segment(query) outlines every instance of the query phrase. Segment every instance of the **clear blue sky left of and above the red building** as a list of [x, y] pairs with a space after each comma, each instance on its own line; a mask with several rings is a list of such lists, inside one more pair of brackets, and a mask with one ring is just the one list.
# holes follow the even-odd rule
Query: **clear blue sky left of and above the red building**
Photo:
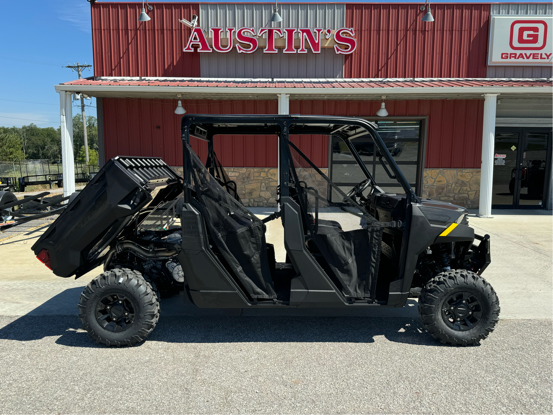
[[[395, 0], [389, 3], [417, 2]], [[465, 2], [442, 0], [438, 3]], [[59, 95], [54, 91], [54, 85], [77, 79], [76, 72], [63, 66], [77, 62], [92, 64], [90, 4], [86, 0], [4, 0], [2, 16], [0, 126], [22, 126], [34, 122], [39, 127], [58, 127]], [[84, 76], [90, 75], [92, 72], [84, 72]], [[96, 100], [85, 102], [89, 105], [87, 115], [96, 116]], [[74, 115], [79, 111], [75, 107]]]

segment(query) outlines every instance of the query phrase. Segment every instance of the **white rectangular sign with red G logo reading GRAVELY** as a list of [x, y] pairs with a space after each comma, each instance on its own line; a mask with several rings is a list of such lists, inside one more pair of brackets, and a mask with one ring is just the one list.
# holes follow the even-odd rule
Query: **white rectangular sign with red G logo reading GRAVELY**
[[492, 16], [488, 65], [551, 65], [553, 18]]

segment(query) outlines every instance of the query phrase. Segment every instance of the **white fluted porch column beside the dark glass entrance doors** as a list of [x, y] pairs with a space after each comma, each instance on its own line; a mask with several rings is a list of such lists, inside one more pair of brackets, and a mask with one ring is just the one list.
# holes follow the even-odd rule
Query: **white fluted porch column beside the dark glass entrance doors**
[[499, 94], [484, 94], [482, 126], [482, 167], [480, 171], [479, 217], [492, 216], [493, 151], [495, 146], [495, 105]]

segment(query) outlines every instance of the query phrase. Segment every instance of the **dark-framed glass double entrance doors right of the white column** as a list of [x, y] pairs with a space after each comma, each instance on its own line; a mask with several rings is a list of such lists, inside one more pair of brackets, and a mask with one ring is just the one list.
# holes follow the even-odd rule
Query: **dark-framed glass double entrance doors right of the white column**
[[[551, 130], [497, 128], [493, 162], [492, 207], [540, 209], [550, 172]], [[550, 173], [549, 173], [550, 174]]]

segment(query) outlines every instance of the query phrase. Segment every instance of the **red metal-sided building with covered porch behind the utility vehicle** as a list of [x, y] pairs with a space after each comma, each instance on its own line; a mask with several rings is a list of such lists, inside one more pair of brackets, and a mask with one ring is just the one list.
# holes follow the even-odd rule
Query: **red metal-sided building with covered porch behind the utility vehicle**
[[[539, 59], [530, 54], [528, 62], [495, 65], [488, 56], [495, 42], [492, 18], [550, 16], [549, 3], [432, 4], [433, 22], [421, 20], [427, 10], [421, 11], [419, 3], [279, 3], [282, 30], [306, 28], [314, 39], [317, 28], [328, 30], [317, 38], [320, 53], [305, 40], [305, 54], [283, 53], [292, 48], [284, 34], [274, 40], [277, 53], [265, 53], [270, 49], [267, 34], [255, 37], [259, 48], [253, 53], [214, 50], [211, 28], [222, 27], [225, 33], [250, 27], [259, 33], [273, 12], [270, 3], [152, 6], [151, 19], [139, 22], [142, 3], [92, 3], [94, 76], [56, 86], [97, 97], [102, 160], [155, 155], [178, 168], [181, 116], [174, 110], [179, 100], [187, 113], [358, 116], [377, 121], [384, 135], [390, 132], [388, 141], [402, 143], [398, 164], [419, 194], [472, 208], [482, 200], [483, 215], [492, 204], [550, 205], [551, 55], [546, 56], [551, 43], [543, 40], [544, 53]], [[181, 22], [194, 15], [195, 28]], [[278, 24], [269, 24], [278, 30]], [[286, 32], [296, 51], [304, 42], [299, 33]], [[340, 44], [340, 34], [355, 39], [355, 47]], [[184, 51], [189, 44], [195, 51]], [[212, 51], [198, 51], [202, 49]], [[388, 116], [378, 117], [383, 101]], [[522, 147], [530, 141], [541, 146], [543, 154], [535, 155], [544, 158], [547, 170], [541, 195], [524, 196], [524, 186], [517, 182], [510, 199], [498, 196], [504, 193], [507, 170], [493, 172], [489, 154], [503, 145], [494, 138], [496, 128], [517, 133]], [[346, 164], [333, 159], [331, 138], [296, 141], [337, 183], [356, 184], [338, 177], [346, 174]], [[192, 145], [206, 157], [202, 144]], [[254, 188], [255, 178], [267, 177], [276, 167], [274, 137], [233, 137], [217, 142], [216, 152], [243, 189]], [[516, 164], [523, 155], [513, 153]], [[254, 206], [274, 204], [274, 195], [264, 197], [260, 191], [243, 190], [242, 198]]]

